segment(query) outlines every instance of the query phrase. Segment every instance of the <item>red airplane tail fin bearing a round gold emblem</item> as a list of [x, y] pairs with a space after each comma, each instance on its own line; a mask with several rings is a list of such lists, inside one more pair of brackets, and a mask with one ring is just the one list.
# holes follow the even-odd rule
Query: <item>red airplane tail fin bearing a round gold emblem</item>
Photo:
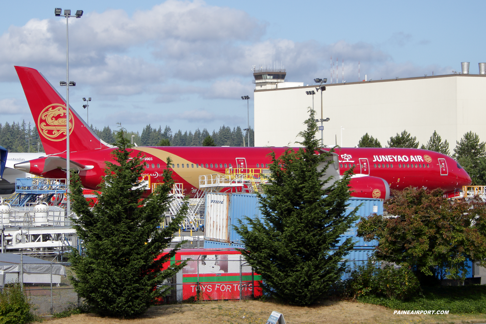
[[[66, 100], [39, 71], [15, 66], [46, 154], [66, 151]], [[69, 106], [69, 150], [111, 147]]]

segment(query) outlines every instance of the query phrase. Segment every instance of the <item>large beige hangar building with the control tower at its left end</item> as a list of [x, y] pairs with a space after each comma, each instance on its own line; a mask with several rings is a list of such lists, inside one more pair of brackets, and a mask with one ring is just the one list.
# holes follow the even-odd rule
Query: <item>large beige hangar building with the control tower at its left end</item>
[[[420, 144], [436, 130], [451, 153], [470, 130], [486, 141], [486, 74], [466, 72], [469, 66], [462, 74], [323, 84], [322, 118], [330, 118], [323, 123], [324, 145], [354, 147], [367, 132], [384, 147], [403, 130]], [[295, 146], [312, 97], [321, 119], [319, 85], [285, 82], [285, 76], [285, 70], [254, 70], [255, 146]], [[312, 90], [315, 95], [306, 94]]]

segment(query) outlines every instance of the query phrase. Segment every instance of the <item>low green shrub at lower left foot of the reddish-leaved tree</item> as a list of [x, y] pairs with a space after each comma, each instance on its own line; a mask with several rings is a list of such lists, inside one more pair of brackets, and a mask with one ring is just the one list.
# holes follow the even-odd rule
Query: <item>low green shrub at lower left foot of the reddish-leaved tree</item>
[[409, 267], [380, 267], [372, 260], [357, 266], [347, 280], [347, 294], [354, 298], [375, 295], [403, 300], [414, 296], [418, 289], [417, 277]]

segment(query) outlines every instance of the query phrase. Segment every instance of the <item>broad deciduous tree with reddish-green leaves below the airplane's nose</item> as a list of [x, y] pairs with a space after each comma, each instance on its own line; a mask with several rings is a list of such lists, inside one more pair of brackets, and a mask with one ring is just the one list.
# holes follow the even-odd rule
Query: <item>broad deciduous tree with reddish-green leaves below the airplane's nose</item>
[[358, 223], [358, 236], [378, 241], [377, 258], [416, 269], [431, 278], [464, 279], [468, 259], [486, 265], [486, 206], [480, 199], [451, 201], [440, 189], [395, 191], [385, 202], [388, 216]]

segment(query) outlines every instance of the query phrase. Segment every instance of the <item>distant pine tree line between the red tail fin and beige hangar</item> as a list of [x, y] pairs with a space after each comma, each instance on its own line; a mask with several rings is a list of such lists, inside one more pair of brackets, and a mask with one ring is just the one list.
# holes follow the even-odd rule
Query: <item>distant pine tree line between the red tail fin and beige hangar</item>
[[[112, 144], [115, 142], [115, 130], [111, 130], [109, 126], [105, 126], [103, 130], [98, 130], [96, 127], [91, 125], [91, 129], [106, 143]], [[250, 146], [254, 146], [254, 131], [250, 128]], [[194, 130], [189, 132], [186, 130], [177, 130], [174, 134], [169, 126], [152, 128], [149, 124], [145, 126], [142, 133], [128, 131], [124, 136], [136, 143], [138, 146], [166, 146], [167, 142], [162, 142], [163, 140], [169, 141], [171, 146], [203, 146], [203, 141], [208, 136], [211, 136], [214, 144], [216, 146], [243, 146], [243, 136], [244, 136], [244, 146], [248, 146], [248, 130], [241, 129], [240, 126], [231, 129], [229, 126], [221, 126], [218, 131], [213, 130], [209, 133], [207, 129]]]

